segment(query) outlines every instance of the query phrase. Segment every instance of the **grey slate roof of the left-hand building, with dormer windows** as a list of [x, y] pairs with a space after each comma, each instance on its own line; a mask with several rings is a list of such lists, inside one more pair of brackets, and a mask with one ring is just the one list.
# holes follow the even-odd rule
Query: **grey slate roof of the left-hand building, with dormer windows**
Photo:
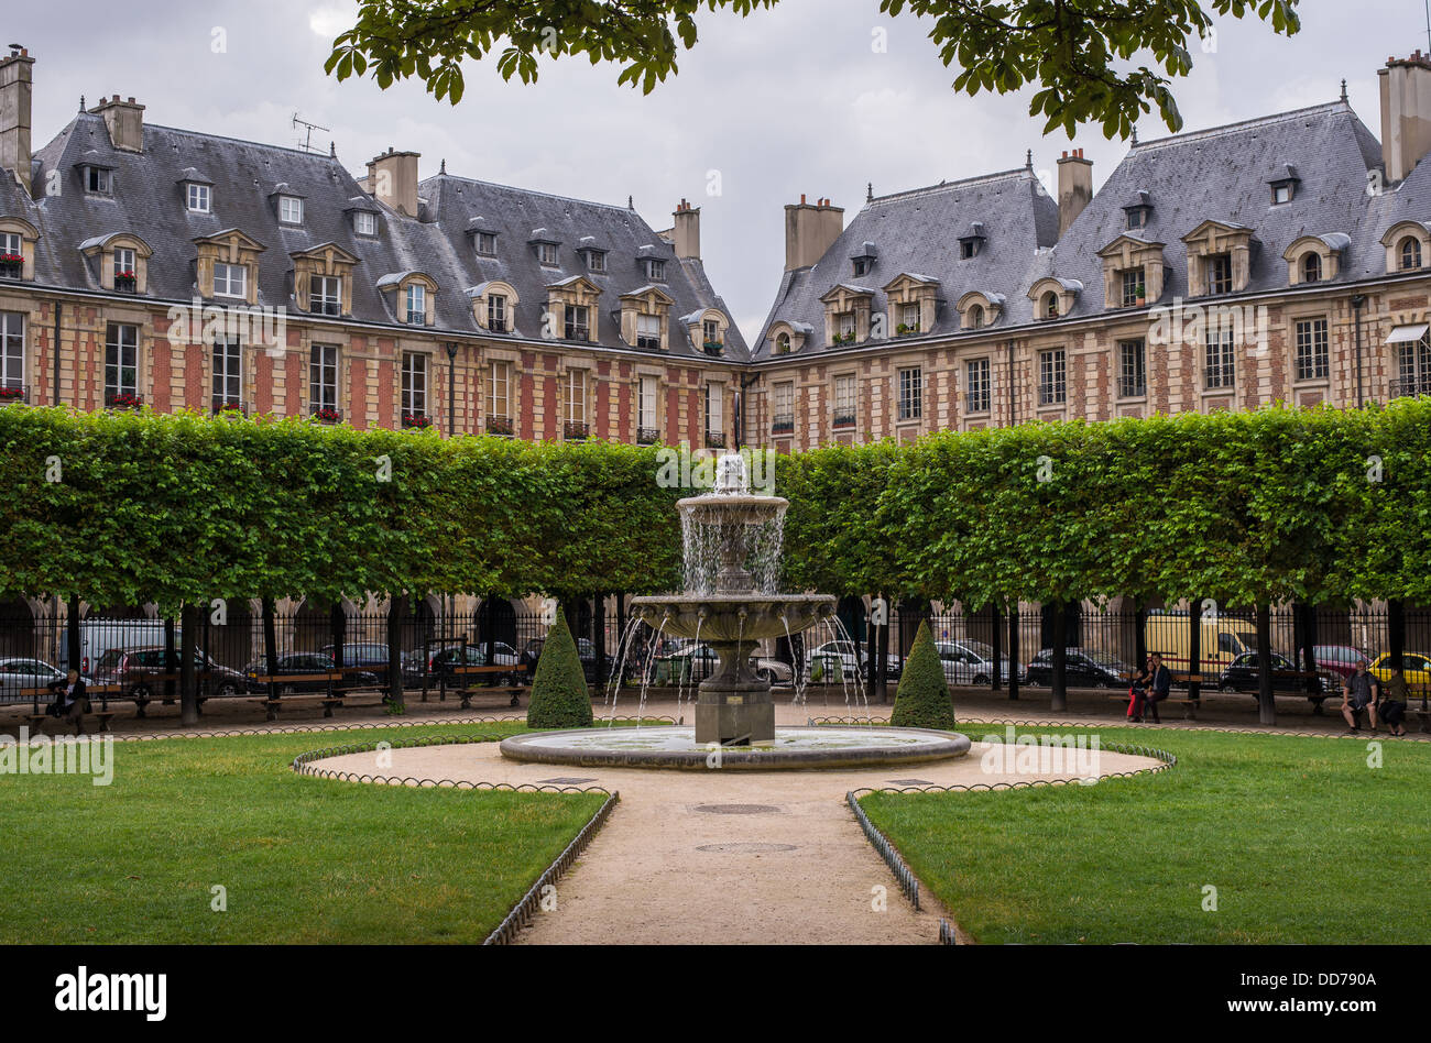
[[[77, 165], [113, 169], [110, 196], [87, 195]], [[627, 348], [620, 323], [611, 316], [617, 298], [650, 282], [637, 263], [641, 248], [667, 260], [663, 289], [675, 299], [673, 315], [716, 308], [728, 309], [705, 278], [700, 260], [677, 260], [674, 249], [634, 210], [524, 189], [488, 185], [448, 175], [419, 183], [419, 219], [375, 203], [333, 156], [298, 149], [242, 142], [218, 134], [145, 126], [142, 153], [110, 145], [104, 119], [79, 113], [34, 156], [30, 199], [13, 177], [0, 177], [0, 215], [19, 216], [40, 229], [36, 248], [36, 283], [100, 290], [99, 270], [80, 245], [99, 235], [129, 232], [153, 248], [149, 259], [149, 298], [189, 302], [195, 289], [195, 239], [226, 229], [240, 229], [265, 246], [259, 255], [259, 305], [290, 305], [290, 253], [335, 243], [358, 258], [353, 269], [352, 319], [402, 325], [394, 308], [396, 295], [379, 290], [384, 276], [422, 272], [436, 285], [436, 332], [482, 336], [471, 310], [468, 289], [492, 279], [509, 282], [521, 303], [515, 309], [514, 339], [538, 339], [545, 288], [564, 276], [585, 275], [601, 286], [601, 313], [595, 323], [608, 348]], [[185, 206], [183, 180], [212, 182], [212, 212], [192, 213]], [[44, 187], [59, 185], [59, 193]], [[303, 225], [278, 219], [276, 195], [303, 197]], [[376, 238], [355, 235], [351, 212], [379, 213]], [[498, 256], [475, 256], [472, 227], [498, 233]], [[558, 269], [542, 268], [528, 245], [532, 230], [545, 227], [561, 242]], [[594, 236], [607, 255], [605, 275], [588, 273], [577, 248]], [[584, 246], [590, 246], [588, 240]], [[630, 348], [630, 351], [635, 351]], [[684, 335], [671, 338], [674, 355], [708, 358]], [[747, 359], [746, 345], [731, 323], [726, 356]]]

